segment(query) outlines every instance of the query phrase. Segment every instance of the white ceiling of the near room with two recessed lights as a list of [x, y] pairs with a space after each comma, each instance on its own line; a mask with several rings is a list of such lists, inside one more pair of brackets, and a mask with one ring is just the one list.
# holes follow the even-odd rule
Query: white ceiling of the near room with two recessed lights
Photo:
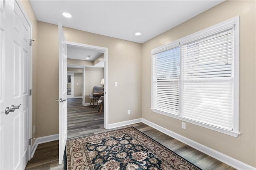
[[[224, 0], [30, 0], [38, 21], [144, 43]], [[62, 12], [72, 14], [65, 18]], [[141, 32], [141, 36], [135, 36]]]

